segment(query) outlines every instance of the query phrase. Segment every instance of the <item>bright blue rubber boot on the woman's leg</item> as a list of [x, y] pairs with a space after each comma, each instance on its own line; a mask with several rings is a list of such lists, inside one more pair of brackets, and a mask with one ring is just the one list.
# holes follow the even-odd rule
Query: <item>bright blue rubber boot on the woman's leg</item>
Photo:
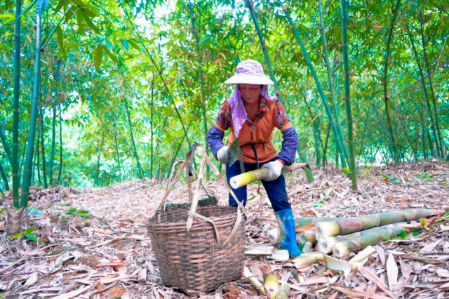
[[297, 247], [295, 218], [293, 218], [292, 209], [286, 208], [285, 210], [277, 211], [276, 220], [278, 220], [281, 232], [279, 237], [282, 248], [288, 250], [288, 254], [293, 258], [302, 255], [302, 251]]

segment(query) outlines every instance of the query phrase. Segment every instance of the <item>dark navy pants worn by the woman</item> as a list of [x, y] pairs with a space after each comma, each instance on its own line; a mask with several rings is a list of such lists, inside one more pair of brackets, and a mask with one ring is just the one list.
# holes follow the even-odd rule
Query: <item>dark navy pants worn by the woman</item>
[[[276, 160], [276, 158], [272, 159], [271, 161]], [[268, 163], [263, 162], [259, 163], [259, 167], [262, 167], [264, 164]], [[245, 163], [245, 171], [253, 171], [256, 169], [255, 163]], [[229, 184], [229, 181], [233, 176], [241, 174], [240, 170], [240, 161], [237, 160], [232, 164], [232, 166], [229, 166], [226, 164], [226, 178], [227, 183]], [[267, 191], [268, 199], [272, 203], [273, 210], [275, 212], [285, 210], [286, 208], [291, 208], [290, 204], [288, 203], [288, 197], [287, 197], [287, 190], [286, 190], [286, 179], [283, 177], [283, 175], [279, 176], [276, 180], [262, 180], [262, 185], [264, 185], [265, 190]], [[230, 184], [229, 184], [230, 186]], [[234, 194], [236, 194], [236, 197], [239, 199], [239, 201], [243, 202], [243, 206], [246, 205], [246, 186], [240, 187], [238, 189], [232, 188], [232, 191], [234, 191]], [[232, 197], [231, 194], [229, 194], [229, 206], [237, 206], [237, 202]]]

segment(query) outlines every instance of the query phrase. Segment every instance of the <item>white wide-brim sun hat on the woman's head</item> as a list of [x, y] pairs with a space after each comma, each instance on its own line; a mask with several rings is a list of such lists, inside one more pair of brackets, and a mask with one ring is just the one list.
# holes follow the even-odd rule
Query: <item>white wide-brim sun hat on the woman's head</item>
[[273, 85], [274, 82], [265, 76], [260, 62], [247, 59], [239, 62], [236, 73], [225, 84]]

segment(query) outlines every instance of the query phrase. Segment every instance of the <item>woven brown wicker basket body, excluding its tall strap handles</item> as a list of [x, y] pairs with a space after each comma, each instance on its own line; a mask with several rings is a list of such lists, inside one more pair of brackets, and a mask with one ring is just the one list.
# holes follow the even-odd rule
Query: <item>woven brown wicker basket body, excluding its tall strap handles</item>
[[[225, 240], [236, 223], [236, 208], [206, 206], [197, 209], [215, 223]], [[230, 241], [217, 246], [213, 225], [194, 220], [186, 232], [187, 213], [183, 209], [161, 211], [147, 222], [149, 237], [163, 283], [191, 291], [214, 291], [222, 284], [241, 278], [245, 248], [245, 221]]]

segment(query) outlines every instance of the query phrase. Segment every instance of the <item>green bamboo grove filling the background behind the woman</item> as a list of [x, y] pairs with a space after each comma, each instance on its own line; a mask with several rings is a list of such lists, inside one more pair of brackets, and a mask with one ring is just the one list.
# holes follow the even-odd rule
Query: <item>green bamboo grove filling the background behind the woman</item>
[[275, 82], [297, 161], [335, 164], [353, 190], [357, 164], [446, 159], [443, 0], [6, 0], [0, 21], [0, 188], [16, 208], [32, 185], [165, 178], [205, 146], [247, 58]]

